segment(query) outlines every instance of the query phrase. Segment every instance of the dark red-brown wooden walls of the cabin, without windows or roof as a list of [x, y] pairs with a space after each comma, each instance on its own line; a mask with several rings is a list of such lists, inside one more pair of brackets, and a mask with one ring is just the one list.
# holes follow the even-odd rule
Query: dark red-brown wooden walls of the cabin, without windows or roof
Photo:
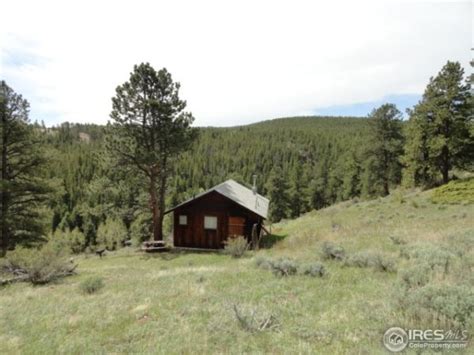
[[[187, 216], [180, 225], [179, 216]], [[204, 217], [217, 217], [217, 229], [204, 228]], [[252, 226], [261, 222], [257, 214], [217, 192], [211, 192], [174, 210], [173, 236], [176, 247], [221, 249], [229, 235], [244, 235], [251, 240]]]

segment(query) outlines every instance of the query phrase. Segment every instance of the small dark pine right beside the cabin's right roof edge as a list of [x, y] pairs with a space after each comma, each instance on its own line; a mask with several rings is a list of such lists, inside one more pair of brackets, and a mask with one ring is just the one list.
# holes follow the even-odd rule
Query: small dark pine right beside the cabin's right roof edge
[[270, 220], [279, 222], [288, 216], [290, 197], [283, 170], [277, 166], [270, 173], [267, 183], [267, 197], [270, 199]]

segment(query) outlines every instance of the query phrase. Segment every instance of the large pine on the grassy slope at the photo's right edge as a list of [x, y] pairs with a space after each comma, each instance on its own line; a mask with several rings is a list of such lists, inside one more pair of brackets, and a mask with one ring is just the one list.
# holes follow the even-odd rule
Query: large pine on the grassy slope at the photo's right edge
[[430, 79], [421, 102], [410, 114], [404, 162], [405, 179], [431, 186], [453, 168], [469, 169], [474, 159], [469, 82], [458, 62], [449, 62]]

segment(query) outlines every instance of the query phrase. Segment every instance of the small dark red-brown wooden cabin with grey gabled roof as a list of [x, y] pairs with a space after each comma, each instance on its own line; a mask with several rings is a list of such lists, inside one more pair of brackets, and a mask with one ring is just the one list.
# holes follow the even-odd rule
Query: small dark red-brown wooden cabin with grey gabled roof
[[[221, 249], [227, 238], [249, 242], [260, 233], [269, 201], [253, 189], [227, 180], [165, 212], [173, 212], [173, 241], [178, 248]], [[254, 230], [256, 228], [256, 231]]]

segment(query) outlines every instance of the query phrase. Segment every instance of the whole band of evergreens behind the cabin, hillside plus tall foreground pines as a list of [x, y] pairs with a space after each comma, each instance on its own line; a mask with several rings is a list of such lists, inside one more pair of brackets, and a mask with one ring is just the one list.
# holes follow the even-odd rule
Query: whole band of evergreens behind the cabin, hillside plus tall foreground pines
[[231, 128], [192, 127], [179, 83], [149, 63], [117, 87], [107, 126], [31, 124], [28, 101], [2, 81], [1, 252], [46, 239], [73, 253], [161, 240], [170, 231], [166, 209], [229, 178], [250, 186], [256, 176], [271, 222], [401, 184], [445, 184], [474, 170], [466, 79], [448, 61], [406, 121], [386, 103], [366, 118]]

